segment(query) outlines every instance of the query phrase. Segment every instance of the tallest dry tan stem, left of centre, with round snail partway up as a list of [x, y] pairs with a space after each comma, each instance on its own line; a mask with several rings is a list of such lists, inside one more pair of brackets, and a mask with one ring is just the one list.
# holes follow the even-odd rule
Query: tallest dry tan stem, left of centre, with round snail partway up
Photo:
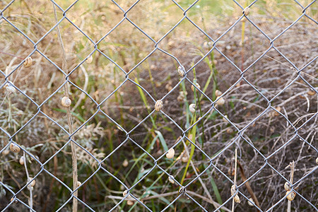
[[[57, 20], [57, 10], [55, 8], [55, 5], [53, 4], [53, 9], [54, 9], [54, 18], [55, 21], [58, 22]], [[65, 73], [69, 73], [68, 71], [68, 67], [67, 67], [67, 61], [66, 61], [66, 52], [64, 49], [64, 45], [63, 45], [63, 40], [61, 39], [61, 33], [59, 31], [59, 25], [57, 25], [57, 37], [59, 38], [59, 45], [61, 46], [61, 50], [62, 50], [62, 57], [63, 57], [63, 64], [62, 64], [62, 69], [65, 71]], [[68, 83], [66, 83], [64, 85], [64, 91], [65, 91], [65, 95], [66, 97], [69, 98], [69, 88], [68, 88]], [[73, 129], [72, 129], [72, 117], [71, 117], [71, 110], [69, 107], [67, 107], [67, 121], [69, 124], [69, 134], [73, 133]], [[71, 137], [70, 137], [71, 139]], [[72, 167], [73, 167], [73, 190], [77, 189], [77, 181], [78, 181], [78, 176], [77, 176], [77, 158], [76, 158], [76, 145], [75, 143], [73, 143], [73, 141], [71, 141], [71, 154], [72, 154]], [[78, 192], [76, 190], [76, 192], [73, 193], [73, 212], [77, 211], [78, 208], [78, 200], [76, 199], [76, 197], [78, 196]]]

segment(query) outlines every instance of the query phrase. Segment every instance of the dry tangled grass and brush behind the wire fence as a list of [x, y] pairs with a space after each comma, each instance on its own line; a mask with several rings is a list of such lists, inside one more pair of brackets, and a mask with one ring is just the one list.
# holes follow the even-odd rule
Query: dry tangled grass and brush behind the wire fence
[[[268, 1], [266, 5], [256, 4], [254, 11], [252, 10], [249, 15], [249, 18], [271, 38], [276, 37], [296, 17], [301, 15], [300, 7], [291, 6], [293, 4], [290, 3], [287, 6], [288, 9], [286, 9], [283, 4], [276, 6], [274, 2]], [[130, 1], [119, 2], [124, 9], [129, 8], [132, 3]], [[306, 3], [308, 2], [301, 1], [301, 4], [305, 5]], [[66, 2], [58, 4], [62, 8], [69, 6]], [[0, 5], [3, 8], [4, 2], [1, 2]], [[208, 15], [210, 8], [203, 1], [201, 8], [196, 8], [194, 12], [189, 13], [189, 17], [199, 27], [206, 30], [213, 39], [217, 39], [229, 28], [230, 25], [228, 23], [234, 23], [237, 17], [240, 16], [241, 10], [235, 4], [229, 3], [228, 7], [232, 9], [224, 10], [223, 13], [211, 16]], [[314, 6], [311, 8], [308, 14], [317, 20], [317, 11], [315, 11]], [[79, 13], [83, 15], [78, 16]], [[290, 13], [294, 13], [295, 17], [288, 17]], [[59, 19], [63, 17], [63, 14], [59, 11], [57, 15]], [[15, 1], [12, 6], [4, 11], [4, 16], [33, 41], [39, 40], [55, 24], [52, 3], [46, 4], [42, 1], [38, 1], [37, 4]], [[151, 35], [154, 40], [158, 40], [165, 35], [167, 30], [172, 28], [182, 16], [182, 11], [173, 6], [173, 4], [167, 4], [167, 2], [162, 1], [153, 1], [151, 4], [141, 1], [128, 14], [128, 17], [148, 35]], [[74, 8], [67, 12], [67, 17], [78, 25], [84, 33], [87, 33], [94, 42], [100, 40], [123, 18], [122, 12], [114, 4], [95, 1], [76, 4]], [[15, 70], [18, 64], [25, 57], [28, 57], [28, 54], [34, 48], [25, 37], [8, 25], [6, 21], [0, 21], [0, 70], [8, 74]], [[69, 71], [71, 71], [88, 54], [93, 52], [94, 45], [67, 20], [63, 20], [59, 27], [66, 49], [67, 66], [69, 66]], [[318, 118], [318, 75], [317, 60], [315, 60], [318, 49], [317, 39], [315, 39], [316, 34], [317, 25], [311, 20], [302, 18], [299, 23], [274, 42], [275, 47], [298, 68], [302, 68], [305, 64], [314, 60], [300, 73], [300, 76], [307, 83], [310, 83], [316, 91], [311, 90], [301, 78], [293, 82], [298, 73], [288, 61], [273, 49], [244, 73], [245, 80], [251, 83], [254, 88], [257, 88], [267, 100], [276, 97], [271, 102], [271, 106], [280, 112], [278, 114], [273, 109], [269, 109], [256, 122], [252, 121], [269, 107], [268, 101], [261, 97], [246, 81], [240, 80], [237, 83], [240, 79], [240, 71], [237, 71], [217, 51], [213, 51], [213, 54], [209, 54], [207, 59], [196, 66], [196, 81], [201, 88], [206, 85], [207, 76], [210, 75], [211, 71], [214, 74], [214, 78], [208, 84], [205, 92], [209, 98], [215, 100], [216, 97], [213, 93], [216, 89], [225, 93], [223, 97], [225, 98], [225, 105], [218, 107], [218, 110], [223, 115], [226, 114], [230, 122], [235, 124], [238, 129], [243, 129], [249, 125], [244, 131], [244, 139], [235, 141], [237, 139], [237, 129], [233, 125], [229, 124], [217, 112], [211, 112], [211, 114], [206, 115], [197, 124], [196, 128], [196, 142], [205, 153], [212, 157], [228, 146], [229, 143], [235, 141], [235, 146], [238, 148], [237, 161], [242, 165], [245, 178], [251, 177], [265, 164], [264, 158], [259, 153], [268, 157], [271, 153], [278, 150], [267, 162], [286, 179], [289, 179], [290, 169], [285, 169], [285, 167], [290, 161], [295, 160], [294, 182], [297, 182], [307, 172], [317, 167], [314, 163], [315, 158], [317, 158], [317, 150], [314, 150], [314, 148], [317, 149]], [[216, 47], [239, 69], [246, 69], [269, 47], [269, 40], [266, 40], [266, 37], [261, 35], [248, 21], [245, 23], [244, 37], [244, 42], [242, 42], [241, 22], [216, 44]], [[98, 49], [107, 57], [116, 61], [124, 71], [130, 71], [151, 52], [153, 47], [153, 42], [148, 40], [139, 30], [136, 30], [127, 20], [124, 20], [122, 25], [119, 25], [119, 28], [110, 33], [98, 45]], [[206, 54], [212, 46], [204, 34], [189, 21], [184, 20], [172, 33], [167, 35], [163, 42], [160, 42], [158, 47], [177, 57], [187, 70], [193, 64], [196, 64], [196, 61], [199, 61], [202, 55]], [[28, 95], [30, 99], [37, 102], [38, 105], [45, 101], [45, 104], [41, 107], [42, 112], [54, 119], [66, 130], [69, 130], [66, 110], [60, 105], [60, 100], [64, 96], [64, 91], [60, 89], [60, 86], [64, 82], [65, 76], [59, 71], [62, 68], [63, 61], [57, 31], [53, 30], [44, 37], [37, 45], [37, 49], [53, 61], [56, 66], [38, 52], [35, 52], [32, 55], [33, 66], [31, 68], [19, 66], [8, 77], [8, 80], [12, 81], [17, 88], [23, 91], [25, 95]], [[138, 79], [139, 84], [157, 100], [163, 98], [179, 82], [177, 66], [178, 64], [174, 59], [157, 50], [131, 72], [129, 78], [132, 81]], [[193, 81], [193, 71], [190, 71], [187, 77], [190, 81]], [[86, 91], [93, 100], [102, 102], [114, 89], [121, 85], [125, 79], [125, 74], [102, 54], [94, 52], [93, 62], [84, 62], [80, 68], [71, 73], [69, 78], [76, 86]], [[290, 84], [291, 82], [293, 83]], [[1, 88], [3, 92], [0, 96], [2, 102], [0, 108], [1, 128], [8, 131], [11, 135], [21, 129], [14, 136], [13, 141], [22, 145], [28, 152], [35, 155], [35, 158], [44, 163], [66, 143], [68, 140], [67, 134], [43, 114], [37, 114], [24, 127], [23, 125], [37, 112], [37, 106], [30, 102], [22, 93], [18, 92], [8, 95], [6, 88], [4, 88], [4, 74], [1, 74], [0, 83], [3, 87]], [[229, 90], [234, 83], [237, 83], [236, 86]], [[187, 98], [182, 102], [178, 102], [176, 99], [179, 91], [183, 89], [187, 91]], [[284, 90], [283, 93], [280, 93], [281, 90]], [[127, 81], [124, 86], [119, 88], [114, 95], [101, 105], [102, 110], [109, 114], [126, 131], [134, 128], [136, 124], [147, 116], [149, 108], [152, 110], [154, 107], [154, 103], [150, 98], [146, 98], [147, 105], [145, 105], [145, 99], [143, 99], [139, 91], [133, 83]], [[49, 98], [54, 92], [56, 93]], [[280, 95], [276, 96], [278, 93]], [[75, 86], [69, 86], [69, 94], [73, 100], [73, 107], [71, 108], [71, 112], [73, 112], [73, 129], [78, 129], [85, 120], [95, 114], [97, 108], [95, 103]], [[186, 81], [184, 87], [177, 87], [167, 96], [163, 102], [163, 111], [172, 117], [179, 126], [186, 129], [192, 116], [187, 108], [194, 101], [195, 95], [191, 90], [191, 84]], [[203, 98], [199, 104], [196, 102], [196, 105], [196, 117], [202, 117], [211, 108], [211, 102], [206, 98]], [[168, 148], [177, 141], [181, 131], [173, 122], [158, 113], [153, 114], [152, 118], [152, 120], [147, 119], [136, 128], [130, 137], [143, 146], [154, 158], [159, 158], [165, 150], [161, 145], [161, 141], [158, 140], [158, 136], [156, 136], [156, 131], [160, 131], [163, 134]], [[302, 126], [304, 123], [306, 124]], [[295, 137], [293, 126], [296, 129], [301, 126], [298, 129], [298, 135], [305, 139], [307, 143], [301, 141], [299, 137]], [[8, 136], [3, 131], [0, 132], [0, 136], [1, 150], [8, 143]], [[93, 119], [90, 119], [75, 134], [74, 138], [96, 158], [102, 160], [114, 148], [125, 141], [126, 135], [113, 122], [110, 122], [110, 119], [105, 117], [104, 114], [98, 112]], [[286, 142], [289, 142], [288, 145], [281, 148]], [[314, 148], [311, 148], [308, 143]], [[232, 184], [224, 175], [220, 174], [220, 171], [233, 179], [230, 170], [232, 168], [234, 150], [235, 148], [228, 148], [218, 158], [213, 160], [213, 164], [218, 167], [218, 170], [213, 169], [213, 167], [209, 168], [208, 172], [201, 175], [200, 180], [196, 180], [187, 188], [189, 194], [194, 196], [194, 199], [199, 201], [205, 208], [213, 208], [213, 206], [218, 205], [218, 196], [223, 202], [230, 198], [230, 187]], [[46, 170], [57, 176], [69, 187], [72, 185], [70, 151], [70, 146], [66, 146], [45, 165]], [[186, 153], [189, 156], [191, 145], [187, 142], [180, 143], [175, 147], [175, 151], [175, 158], [178, 156], [182, 158], [182, 155]], [[128, 187], [131, 187], [131, 185], [136, 183], [136, 179], [140, 179], [146, 173], [145, 170], [147, 171], [153, 166], [149, 162], [151, 158], [147, 155], [142, 155], [142, 153], [143, 151], [136, 148], [134, 143], [127, 142], [110, 158], [105, 160], [102, 163], [102, 167], [112, 172]], [[1, 182], [11, 187], [14, 192], [17, 192], [26, 183], [24, 167], [18, 163], [20, 156], [21, 154], [9, 153], [0, 157]], [[78, 180], [83, 182], [98, 169], [98, 165], [83, 150], [78, 149], [77, 156], [79, 160]], [[122, 165], [124, 159], [129, 161], [128, 167]], [[173, 175], [178, 182], [181, 181], [186, 163], [182, 163], [180, 160], [173, 160], [172, 163], [170, 160], [163, 158], [158, 164], [167, 170], [170, 175]], [[199, 175], [205, 170], [207, 165], [208, 159], [196, 149], [184, 184]], [[249, 180], [250, 187], [255, 196], [257, 196], [262, 210], [267, 210], [285, 196], [285, 190], [283, 189], [285, 181], [269, 165], [265, 165], [257, 175]], [[36, 175], [40, 171], [40, 165], [29, 156], [28, 168], [31, 176]], [[151, 208], [153, 210], [163, 209], [167, 206], [168, 201], [171, 202], [177, 196], [177, 185], [170, 184], [166, 180], [167, 176], [161, 174], [161, 170], [155, 168], [142, 183], [139, 183], [132, 190], [132, 194], [140, 197], [143, 203], [153, 207]], [[237, 185], [244, 181], [243, 178], [242, 172], [240, 172], [237, 175]], [[212, 180], [216, 183], [218, 192], [213, 187]], [[316, 185], [317, 179], [312, 173], [303, 179], [295, 189], [313, 205], [317, 205], [317, 189], [314, 189]], [[239, 190], [248, 198], [250, 197], [250, 191], [245, 185], [240, 187]], [[25, 191], [26, 189], [18, 194], [17, 197], [28, 203], [30, 198]], [[122, 199], [122, 191], [124, 191], [124, 187], [119, 182], [106, 172], [99, 171], [86, 184], [83, 184], [83, 187], [78, 190], [78, 196], [95, 210], [109, 210]], [[37, 184], [34, 187], [33, 194], [33, 206], [37, 211], [56, 210], [69, 199], [69, 191], [45, 172], [42, 172], [37, 177]], [[4, 208], [12, 195], [7, 189], [0, 186], [0, 196], [0, 208]], [[247, 200], [242, 195], [240, 199], [241, 204], [235, 204], [237, 211], [255, 211], [254, 208], [247, 205]], [[225, 204], [225, 207], [231, 208], [230, 203], [231, 201]], [[180, 211], [187, 210], [182, 204], [189, 204], [188, 208], [198, 210], [196, 204], [186, 198], [179, 199], [169, 210], [172, 211], [175, 208]], [[139, 206], [137, 205], [134, 209], [138, 211], [140, 209]], [[131, 206], [126, 205], [126, 201], [120, 207], [124, 211], [131, 208]], [[21, 204], [15, 204], [11, 208], [12, 210], [18, 210], [18, 208], [25, 207]], [[65, 209], [70, 210], [70, 208], [71, 203]], [[275, 209], [285, 211], [286, 208], [287, 201], [284, 201]], [[292, 208], [314, 210], [300, 196], [296, 196], [295, 200], [292, 201]], [[79, 204], [79, 209], [84, 211], [81, 204]]]

